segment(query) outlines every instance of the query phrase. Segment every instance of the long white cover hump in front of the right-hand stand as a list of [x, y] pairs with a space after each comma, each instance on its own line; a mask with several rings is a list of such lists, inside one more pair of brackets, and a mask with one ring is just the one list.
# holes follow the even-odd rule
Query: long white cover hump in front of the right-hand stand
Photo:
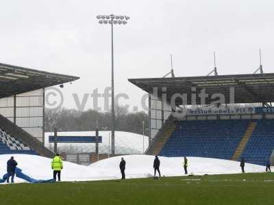
[[[154, 174], [153, 161], [155, 156], [151, 155], [127, 155], [123, 156], [126, 161], [125, 174], [127, 178], [139, 178], [152, 176]], [[159, 156], [160, 172], [162, 176], [182, 176], [184, 175], [182, 157]], [[102, 176], [120, 177], [118, 169], [121, 156], [104, 159], [91, 164], [92, 169], [100, 170]], [[108, 170], [112, 170], [109, 173]], [[245, 163], [247, 172], [264, 172], [264, 167]], [[188, 157], [188, 174], [238, 174], [241, 173], [240, 163], [224, 159], [211, 159], [202, 157]]]

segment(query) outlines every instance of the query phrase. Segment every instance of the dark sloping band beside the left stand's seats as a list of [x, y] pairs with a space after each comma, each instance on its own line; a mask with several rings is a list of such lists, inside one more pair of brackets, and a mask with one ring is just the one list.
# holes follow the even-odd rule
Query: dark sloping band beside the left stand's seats
[[29, 148], [32, 148], [32, 150], [35, 150], [41, 156], [46, 156], [49, 158], [55, 156], [54, 152], [51, 152], [51, 150], [45, 148], [41, 141], [24, 131], [22, 128], [18, 127], [16, 124], [12, 123], [7, 118], [3, 117], [3, 115], [0, 115], [0, 125], [1, 128], [4, 128], [10, 135], [13, 135], [16, 139], [23, 141], [23, 143], [27, 144]]

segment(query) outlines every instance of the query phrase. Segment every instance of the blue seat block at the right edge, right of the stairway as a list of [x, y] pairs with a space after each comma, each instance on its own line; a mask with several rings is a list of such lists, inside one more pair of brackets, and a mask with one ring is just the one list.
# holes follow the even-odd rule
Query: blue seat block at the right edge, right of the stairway
[[274, 120], [258, 120], [241, 157], [249, 163], [265, 165], [274, 148]]

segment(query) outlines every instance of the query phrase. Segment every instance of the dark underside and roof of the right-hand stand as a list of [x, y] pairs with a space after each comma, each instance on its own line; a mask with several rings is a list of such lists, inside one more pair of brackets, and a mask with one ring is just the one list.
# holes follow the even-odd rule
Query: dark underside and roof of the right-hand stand
[[[166, 93], [168, 100], [173, 94], [188, 94], [188, 105], [192, 105], [192, 93], [197, 94], [197, 105], [201, 104], [198, 94], [203, 89], [206, 89], [206, 94], [209, 94], [209, 98], [206, 98], [206, 105], [216, 100], [210, 98], [212, 94], [223, 94], [225, 103], [229, 104], [230, 87], [234, 87], [234, 103], [274, 102], [274, 73], [129, 79], [129, 82], [149, 93], [153, 92], [153, 87], [158, 87], [158, 96]], [[166, 87], [166, 92], [162, 92], [160, 89], [162, 87]], [[192, 91], [195, 90], [192, 87], [195, 87], [196, 92]], [[176, 102], [182, 105], [182, 102]]]

